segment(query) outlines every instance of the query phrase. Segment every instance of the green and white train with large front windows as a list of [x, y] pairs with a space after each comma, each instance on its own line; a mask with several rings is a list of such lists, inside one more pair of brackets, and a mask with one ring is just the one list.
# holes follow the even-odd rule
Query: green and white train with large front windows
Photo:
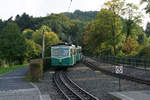
[[54, 67], [69, 67], [82, 60], [80, 46], [61, 43], [51, 47], [51, 65]]

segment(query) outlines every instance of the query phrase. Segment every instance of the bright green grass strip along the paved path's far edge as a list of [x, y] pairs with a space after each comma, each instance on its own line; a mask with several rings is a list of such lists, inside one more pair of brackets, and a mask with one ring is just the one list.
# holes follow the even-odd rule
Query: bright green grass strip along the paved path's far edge
[[0, 75], [4, 74], [4, 73], [7, 73], [7, 72], [11, 72], [15, 69], [18, 69], [18, 68], [22, 68], [22, 67], [25, 67], [25, 66], [28, 66], [29, 64], [24, 64], [24, 65], [14, 65], [14, 66], [9, 66], [9, 67], [6, 67], [6, 68], [0, 68]]

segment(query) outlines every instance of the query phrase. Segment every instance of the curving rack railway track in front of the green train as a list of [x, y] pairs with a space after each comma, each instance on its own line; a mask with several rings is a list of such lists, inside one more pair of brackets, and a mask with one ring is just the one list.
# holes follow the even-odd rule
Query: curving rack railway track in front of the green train
[[54, 82], [66, 100], [100, 100], [74, 83], [64, 71], [54, 74]]

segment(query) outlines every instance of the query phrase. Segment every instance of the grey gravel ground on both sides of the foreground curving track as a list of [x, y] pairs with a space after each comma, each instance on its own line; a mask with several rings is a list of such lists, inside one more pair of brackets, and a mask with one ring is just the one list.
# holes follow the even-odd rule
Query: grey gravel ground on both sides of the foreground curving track
[[[57, 92], [53, 83], [53, 74], [51, 70], [44, 73], [40, 83], [34, 83], [40, 89], [42, 95], [49, 95], [52, 100], [63, 100], [63, 96]], [[80, 87], [89, 93], [102, 98], [103, 100], [111, 100], [108, 95], [109, 92], [118, 91], [118, 79], [101, 72], [94, 72], [83, 64], [77, 64], [75, 67], [69, 68], [68, 76], [75, 81]], [[142, 85], [126, 80], [121, 80], [122, 91], [137, 91], [137, 90], [150, 90], [147, 85]]]

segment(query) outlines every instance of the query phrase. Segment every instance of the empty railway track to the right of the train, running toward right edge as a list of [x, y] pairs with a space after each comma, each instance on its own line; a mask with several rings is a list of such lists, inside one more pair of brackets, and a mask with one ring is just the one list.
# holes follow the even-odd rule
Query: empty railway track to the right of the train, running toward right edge
[[126, 79], [126, 80], [129, 80], [129, 81], [133, 81], [133, 82], [137, 82], [137, 83], [141, 83], [141, 84], [150, 85], [150, 80], [145, 80], [145, 79], [141, 79], [141, 78], [125, 75], [125, 74], [116, 74], [115, 72], [111, 72], [109, 70], [97, 67], [93, 63], [88, 62], [86, 60], [84, 60], [83, 63], [86, 66], [90, 67], [92, 70], [100, 70], [101, 72], [103, 72], [104, 74], [107, 74], [107, 75], [111, 75], [111, 76], [114, 76], [114, 77], [117, 77], [117, 78]]

